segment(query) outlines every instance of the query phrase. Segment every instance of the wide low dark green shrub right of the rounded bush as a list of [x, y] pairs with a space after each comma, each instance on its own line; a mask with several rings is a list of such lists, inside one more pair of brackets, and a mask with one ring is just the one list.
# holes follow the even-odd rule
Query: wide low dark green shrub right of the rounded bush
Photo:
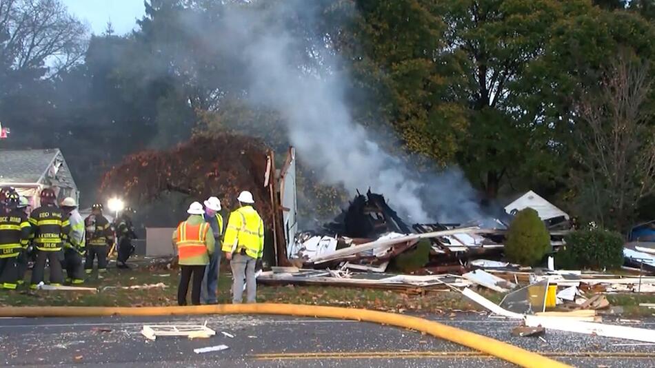
[[[572, 232], [564, 241], [565, 254], [569, 253], [571, 265], [561, 268], [617, 269], [623, 265], [623, 236], [604, 229]], [[560, 257], [561, 258], [561, 257]]]

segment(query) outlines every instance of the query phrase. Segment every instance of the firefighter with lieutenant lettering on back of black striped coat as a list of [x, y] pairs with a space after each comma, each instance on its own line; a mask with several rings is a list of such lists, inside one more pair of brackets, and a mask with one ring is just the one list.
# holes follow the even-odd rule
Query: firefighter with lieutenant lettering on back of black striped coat
[[70, 230], [66, 215], [55, 204], [57, 196], [54, 190], [50, 188], [41, 190], [40, 198], [41, 207], [34, 209], [30, 214], [30, 224], [34, 227], [34, 247], [37, 249], [37, 261], [32, 268], [31, 289], [37, 289], [43, 282], [46, 260], [50, 265], [50, 285], [61, 286], [63, 283], [62, 237]]

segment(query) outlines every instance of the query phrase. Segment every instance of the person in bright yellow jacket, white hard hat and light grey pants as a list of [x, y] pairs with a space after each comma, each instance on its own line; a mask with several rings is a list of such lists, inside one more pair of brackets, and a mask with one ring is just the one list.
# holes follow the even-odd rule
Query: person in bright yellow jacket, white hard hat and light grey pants
[[232, 268], [232, 303], [243, 301], [243, 280], [247, 289], [246, 300], [256, 303], [257, 282], [256, 269], [261, 269], [261, 257], [264, 252], [264, 223], [261, 216], [252, 207], [252, 193], [241, 192], [239, 209], [230, 214], [228, 229], [223, 239], [225, 258], [230, 260]]

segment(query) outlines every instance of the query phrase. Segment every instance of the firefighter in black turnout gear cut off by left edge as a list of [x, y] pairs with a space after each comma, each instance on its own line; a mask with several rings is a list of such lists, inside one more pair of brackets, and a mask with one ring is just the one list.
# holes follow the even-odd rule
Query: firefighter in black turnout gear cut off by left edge
[[10, 290], [18, 285], [18, 258], [31, 229], [27, 216], [17, 208], [18, 205], [18, 194], [8, 193], [0, 213], [0, 288]]

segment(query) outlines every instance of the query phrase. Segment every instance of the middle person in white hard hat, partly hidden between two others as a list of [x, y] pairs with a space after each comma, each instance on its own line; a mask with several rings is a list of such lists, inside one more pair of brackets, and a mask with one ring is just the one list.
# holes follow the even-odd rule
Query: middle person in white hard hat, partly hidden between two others
[[[205, 201], [205, 222], [212, 227], [214, 234], [214, 247], [221, 248], [221, 235], [223, 235], [223, 216], [221, 211], [221, 201], [219, 198], [210, 197]], [[202, 298], [205, 304], [218, 303], [218, 287], [221, 267], [221, 252], [216, 250], [209, 258], [209, 265], [205, 269], [205, 278], [203, 278]]]

